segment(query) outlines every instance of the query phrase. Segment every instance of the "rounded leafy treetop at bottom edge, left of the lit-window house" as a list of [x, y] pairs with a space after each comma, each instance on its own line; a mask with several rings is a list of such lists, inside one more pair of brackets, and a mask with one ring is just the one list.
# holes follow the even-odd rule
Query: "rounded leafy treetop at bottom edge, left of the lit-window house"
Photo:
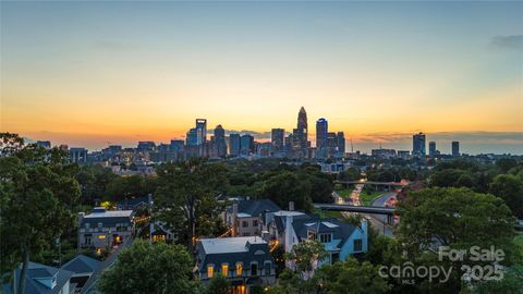
[[136, 240], [104, 271], [98, 290], [106, 294], [202, 293], [192, 281], [193, 259], [185, 247]]

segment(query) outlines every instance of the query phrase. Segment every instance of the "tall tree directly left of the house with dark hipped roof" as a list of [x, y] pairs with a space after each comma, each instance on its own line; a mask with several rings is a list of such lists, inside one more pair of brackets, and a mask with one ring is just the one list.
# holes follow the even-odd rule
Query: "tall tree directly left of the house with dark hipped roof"
[[175, 233], [177, 238], [193, 252], [197, 236], [217, 233], [220, 229], [217, 201], [227, 185], [224, 168], [195, 158], [178, 163], [166, 163], [157, 169], [158, 188], [155, 210]]

